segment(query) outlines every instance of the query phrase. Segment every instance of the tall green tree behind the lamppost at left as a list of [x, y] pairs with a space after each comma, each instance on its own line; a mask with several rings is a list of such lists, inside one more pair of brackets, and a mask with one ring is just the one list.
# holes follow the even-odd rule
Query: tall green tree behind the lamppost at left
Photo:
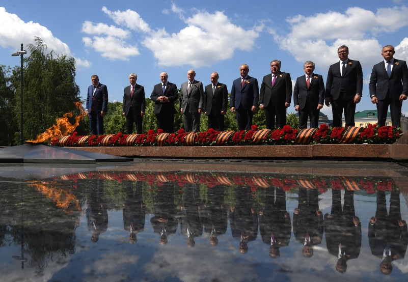
[[[24, 58], [23, 136], [35, 139], [55, 124], [66, 112], [78, 114], [75, 102], [80, 102], [75, 82], [75, 59], [66, 54], [46, 53], [47, 46], [35, 37], [28, 45], [29, 56]], [[20, 68], [13, 69], [12, 83], [19, 93]], [[19, 117], [20, 97], [16, 96], [15, 117]], [[18, 113], [18, 115], [17, 115]], [[19, 125], [19, 119], [15, 119]], [[17, 136], [16, 136], [17, 137]], [[16, 140], [17, 141], [17, 140]]]

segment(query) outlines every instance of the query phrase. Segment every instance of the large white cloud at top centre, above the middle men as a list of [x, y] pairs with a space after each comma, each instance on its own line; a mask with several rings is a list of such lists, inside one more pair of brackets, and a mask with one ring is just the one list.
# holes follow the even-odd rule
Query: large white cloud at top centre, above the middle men
[[[182, 11], [175, 5], [172, 10]], [[183, 21], [187, 26], [178, 33], [168, 34], [159, 29], [143, 40], [143, 45], [153, 52], [159, 65], [209, 66], [231, 58], [236, 49], [250, 51], [260, 32], [259, 26], [244, 30], [219, 11], [213, 14], [197, 11]]]

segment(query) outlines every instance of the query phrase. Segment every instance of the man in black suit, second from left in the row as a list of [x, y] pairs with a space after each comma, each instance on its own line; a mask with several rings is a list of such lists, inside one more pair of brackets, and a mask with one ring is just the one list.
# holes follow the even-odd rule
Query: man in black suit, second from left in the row
[[143, 116], [146, 108], [145, 89], [136, 83], [137, 80], [137, 74], [129, 74], [130, 85], [125, 87], [123, 91], [122, 115], [126, 117], [127, 134], [133, 133], [133, 123], [136, 126], [136, 131], [139, 134], [142, 133]]

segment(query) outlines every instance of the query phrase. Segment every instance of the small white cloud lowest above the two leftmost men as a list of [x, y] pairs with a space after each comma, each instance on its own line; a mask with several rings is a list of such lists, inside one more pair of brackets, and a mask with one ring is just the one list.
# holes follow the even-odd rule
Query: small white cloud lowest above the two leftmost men
[[95, 49], [101, 53], [102, 57], [110, 60], [129, 61], [129, 57], [140, 54], [137, 47], [113, 36], [84, 37], [82, 40], [86, 47]]

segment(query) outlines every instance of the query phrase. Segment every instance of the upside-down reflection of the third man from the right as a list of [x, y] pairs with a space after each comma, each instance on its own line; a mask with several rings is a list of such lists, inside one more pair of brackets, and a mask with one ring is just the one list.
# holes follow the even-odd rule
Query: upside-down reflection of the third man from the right
[[293, 213], [293, 234], [303, 242], [303, 256], [313, 256], [313, 246], [323, 237], [323, 214], [319, 210], [317, 189], [299, 188], [298, 205]]

